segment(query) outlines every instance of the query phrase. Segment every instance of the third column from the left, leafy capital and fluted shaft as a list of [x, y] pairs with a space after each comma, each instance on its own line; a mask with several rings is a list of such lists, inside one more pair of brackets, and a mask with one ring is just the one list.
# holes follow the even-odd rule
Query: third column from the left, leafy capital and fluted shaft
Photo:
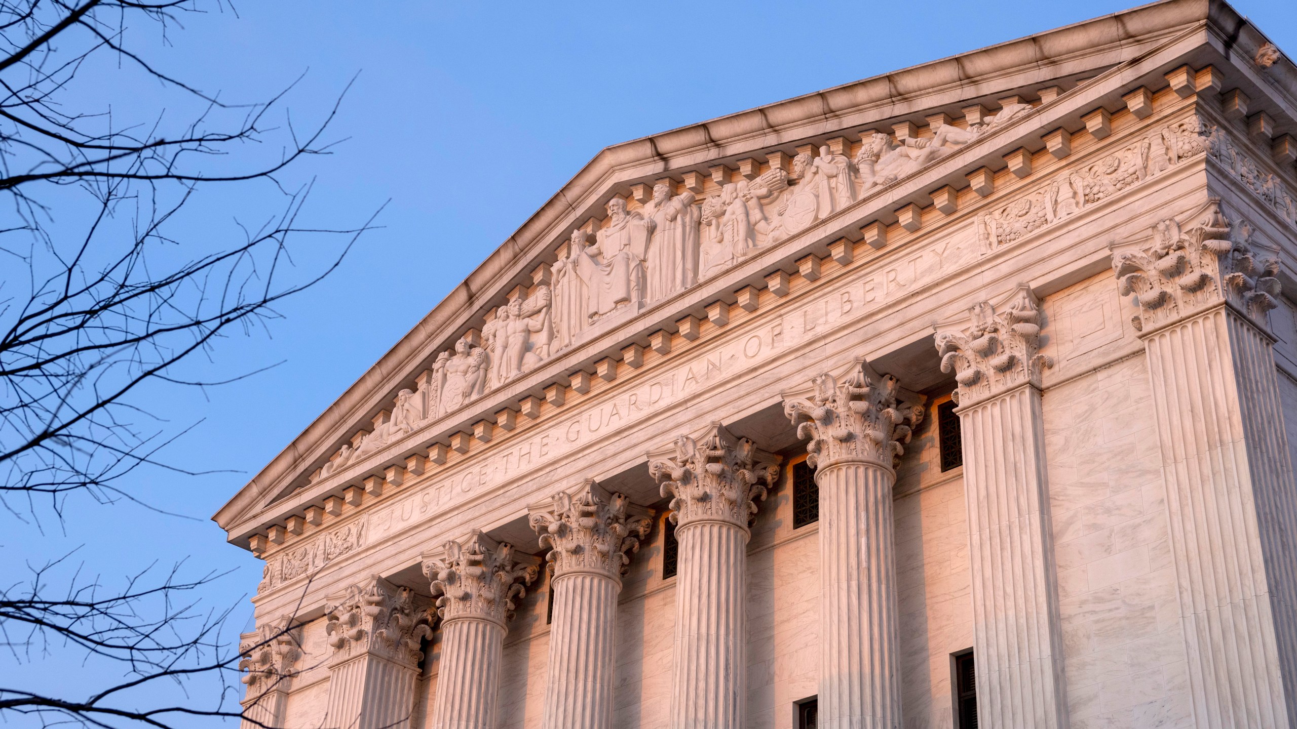
[[423, 562], [441, 615], [441, 660], [432, 729], [495, 729], [501, 654], [514, 598], [540, 559], [473, 531]]

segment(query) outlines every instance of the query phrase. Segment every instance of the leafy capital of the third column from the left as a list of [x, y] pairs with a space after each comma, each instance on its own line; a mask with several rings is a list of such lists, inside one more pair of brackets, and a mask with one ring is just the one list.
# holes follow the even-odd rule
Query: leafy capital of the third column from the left
[[499, 625], [514, 619], [514, 598], [527, 595], [540, 558], [516, 551], [477, 529], [462, 541], [450, 540], [423, 556], [423, 573], [432, 581], [442, 623], [477, 617]]

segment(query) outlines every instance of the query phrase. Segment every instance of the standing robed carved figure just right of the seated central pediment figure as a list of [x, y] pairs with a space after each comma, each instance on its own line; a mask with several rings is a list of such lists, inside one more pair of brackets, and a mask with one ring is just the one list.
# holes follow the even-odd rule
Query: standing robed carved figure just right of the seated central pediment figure
[[672, 196], [671, 185], [655, 184], [645, 205], [652, 221], [646, 276], [647, 301], [658, 301], [698, 283], [698, 209], [694, 193]]

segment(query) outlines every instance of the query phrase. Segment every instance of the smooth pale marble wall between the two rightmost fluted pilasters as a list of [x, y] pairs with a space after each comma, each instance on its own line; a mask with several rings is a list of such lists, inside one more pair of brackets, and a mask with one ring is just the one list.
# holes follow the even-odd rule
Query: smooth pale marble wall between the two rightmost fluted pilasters
[[1143, 345], [1106, 274], [1048, 298], [1045, 310], [1058, 323], [1044, 348], [1060, 359], [1044, 423], [1071, 726], [1185, 725], [1184, 637]]

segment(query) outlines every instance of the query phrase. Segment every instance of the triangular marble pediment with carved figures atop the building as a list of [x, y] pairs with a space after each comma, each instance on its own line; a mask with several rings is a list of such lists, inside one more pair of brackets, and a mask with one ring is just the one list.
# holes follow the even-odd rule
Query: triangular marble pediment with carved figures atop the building
[[[1154, 96], [1218, 92], [1228, 61], [1206, 39], [1227, 10], [1161, 3], [603, 150], [217, 520], [246, 538], [346, 489], [399, 486], [667, 355], [730, 306], [751, 310], [757, 292], [813, 280], [821, 258], [886, 254], [925, 214], [1035, 184], [1034, 157], [1062, 160], [1074, 135], [1106, 144]], [[1160, 154], [1180, 154], [1176, 134]], [[1143, 137], [1113, 144], [1149, 154]], [[1031, 196], [1054, 196], [1040, 215], [1074, 214], [1083, 185], [1064, 175], [992, 198], [979, 235], [1018, 200], [1036, 214]]]

